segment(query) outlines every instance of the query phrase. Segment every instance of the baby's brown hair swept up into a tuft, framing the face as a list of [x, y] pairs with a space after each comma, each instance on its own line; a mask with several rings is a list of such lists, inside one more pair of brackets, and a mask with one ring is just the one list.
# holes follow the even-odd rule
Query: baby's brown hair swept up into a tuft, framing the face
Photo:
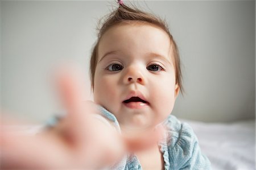
[[108, 31], [109, 28], [112, 28], [117, 24], [148, 23], [152, 26], [161, 28], [164, 32], [168, 34], [170, 38], [173, 50], [172, 52], [174, 54], [172, 60], [174, 61], [176, 84], [179, 85], [180, 92], [181, 94], [183, 94], [184, 90], [182, 85], [179, 50], [177, 48], [174, 38], [170, 33], [168, 24], [166, 23], [165, 20], [161, 19], [159, 16], [156, 16], [155, 14], [142, 11], [131, 3], [129, 5], [126, 4], [127, 2], [123, 3], [122, 1], [118, 1], [118, 7], [116, 9], [113, 9], [113, 11], [110, 12], [108, 15], [105, 15], [103, 18], [101, 18], [98, 22], [98, 27], [96, 28], [98, 30], [97, 41], [92, 48], [92, 54], [90, 57], [90, 80], [92, 83], [92, 90], [94, 87], [94, 74], [98, 59], [98, 44], [102, 36], [105, 34], [105, 32]]

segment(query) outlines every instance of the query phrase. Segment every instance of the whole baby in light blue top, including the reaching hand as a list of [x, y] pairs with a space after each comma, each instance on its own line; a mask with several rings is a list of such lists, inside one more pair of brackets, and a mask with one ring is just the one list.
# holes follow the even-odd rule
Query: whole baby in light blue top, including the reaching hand
[[[72, 168], [83, 158], [85, 168], [210, 169], [210, 162], [201, 154], [191, 127], [170, 115], [183, 88], [179, 53], [166, 24], [154, 15], [128, 7], [122, 1], [118, 3], [118, 9], [100, 28], [90, 60], [94, 103], [100, 112], [89, 103], [80, 106], [82, 99], [78, 96], [81, 92], [69, 84], [74, 80], [61, 79], [69, 114], [52, 132], [46, 133], [44, 143], [42, 139], [32, 139], [34, 143], [52, 146], [48, 147], [52, 150], [44, 148], [47, 154], [37, 158], [41, 160], [36, 160], [40, 162], [36, 166], [47, 169], [63, 163], [63, 167]], [[75, 117], [74, 114], [81, 113], [84, 107], [86, 112], [97, 114]], [[55, 140], [56, 134], [61, 138]], [[49, 138], [54, 140], [49, 142]], [[68, 141], [71, 148], [75, 148], [73, 155], [64, 151], [67, 146], [62, 147], [60, 140]], [[31, 139], [24, 141], [28, 144]], [[83, 146], [85, 143], [88, 147]], [[102, 152], [93, 155], [96, 150]], [[59, 156], [59, 162], [51, 161], [48, 158], [51, 154], [55, 160]], [[8, 167], [11, 156], [4, 156]]]

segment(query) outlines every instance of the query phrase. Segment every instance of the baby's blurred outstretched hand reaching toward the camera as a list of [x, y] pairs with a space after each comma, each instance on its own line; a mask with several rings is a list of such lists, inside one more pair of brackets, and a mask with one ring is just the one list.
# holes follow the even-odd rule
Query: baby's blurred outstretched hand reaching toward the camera
[[61, 69], [57, 87], [67, 115], [52, 130], [28, 135], [1, 125], [1, 169], [98, 169], [109, 167], [125, 154], [118, 132], [97, 118], [74, 69]]

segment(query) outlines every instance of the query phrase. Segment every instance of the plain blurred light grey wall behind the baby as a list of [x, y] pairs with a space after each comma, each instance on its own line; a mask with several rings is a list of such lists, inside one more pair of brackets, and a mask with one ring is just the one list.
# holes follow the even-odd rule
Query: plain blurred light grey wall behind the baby
[[[132, 3], [166, 18], [179, 47], [185, 93], [172, 114], [205, 122], [255, 119], [255, 1]], [[2, 110], [32, 122], [58, 111], [52, 69], [73, 61], [88, 79], [97, 20], [112, 6], [115, 1], [1, 1]]]

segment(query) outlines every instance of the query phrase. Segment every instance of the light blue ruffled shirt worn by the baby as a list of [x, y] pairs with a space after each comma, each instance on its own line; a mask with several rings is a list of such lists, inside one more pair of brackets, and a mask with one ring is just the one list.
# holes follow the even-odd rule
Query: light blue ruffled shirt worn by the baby
[[[115, 116], [104, 107], [100, 106], [99, 109], [102, 116], [112, 121], [120, 131]], [[162, 125], [167, 129], [166, 138], [159, 142], [165, 170], [211, 169], [210, 161], [201, 154], [196, 135], [187, 123], [181, 123], [174, 115], [169, 115]], [[137, 170], [142, 167], [135, 155], [127, 155], [110, 169]]]

